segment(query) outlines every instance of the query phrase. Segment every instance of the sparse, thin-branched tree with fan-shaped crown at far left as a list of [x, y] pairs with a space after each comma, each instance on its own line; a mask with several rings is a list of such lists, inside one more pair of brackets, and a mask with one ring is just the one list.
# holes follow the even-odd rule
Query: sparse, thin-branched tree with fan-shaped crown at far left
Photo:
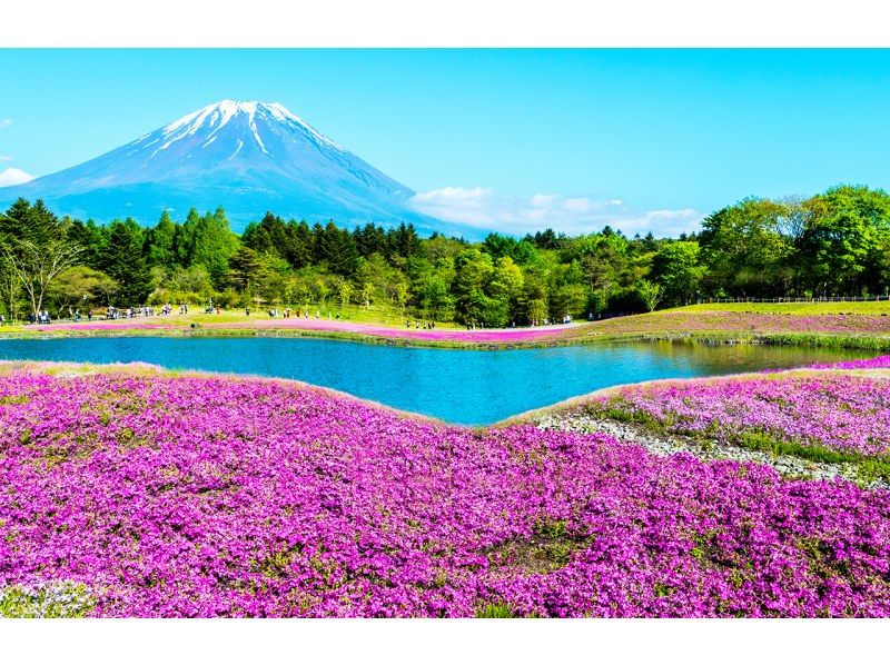
[[60, 272], [77, 262], [81, 251], [81, 247], [63, 239], [46, 237], [37, 241], [9, 239], [2, 246], [6, 265], [21, 284], [34, 318], [43, 310], [50, 285]]

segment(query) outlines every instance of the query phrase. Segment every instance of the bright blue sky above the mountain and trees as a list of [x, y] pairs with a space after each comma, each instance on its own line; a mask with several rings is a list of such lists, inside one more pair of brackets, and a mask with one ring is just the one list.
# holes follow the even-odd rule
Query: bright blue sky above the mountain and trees
[[0, 182], [224, 98], [280, 101], [422, 209], [512, 232], [670, 235], [890, 170], [890, 50], [0, 50]]

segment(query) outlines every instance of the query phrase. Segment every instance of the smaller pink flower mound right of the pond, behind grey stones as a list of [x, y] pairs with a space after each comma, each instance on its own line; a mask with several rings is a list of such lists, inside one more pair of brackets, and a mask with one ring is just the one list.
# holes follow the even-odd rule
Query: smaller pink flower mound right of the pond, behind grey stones
[[[890, 456], [888, 357], [784, 371], [623, 386], [584, 408], [721, 443], [759, 439], [850, 458]], [[842, 371], [842, 370], [861, 370]], [[869, 374], [869, 370], [884, 374]]]

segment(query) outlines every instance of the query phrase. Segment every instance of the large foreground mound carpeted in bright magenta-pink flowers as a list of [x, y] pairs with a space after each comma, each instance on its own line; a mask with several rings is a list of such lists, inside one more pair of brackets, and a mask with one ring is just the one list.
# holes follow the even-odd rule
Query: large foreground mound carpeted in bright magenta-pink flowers
[[31, 605], [70, 588], [93, 616], [890, 615], [884, 490], [285, 381], [4, 369], [0, 588]]

